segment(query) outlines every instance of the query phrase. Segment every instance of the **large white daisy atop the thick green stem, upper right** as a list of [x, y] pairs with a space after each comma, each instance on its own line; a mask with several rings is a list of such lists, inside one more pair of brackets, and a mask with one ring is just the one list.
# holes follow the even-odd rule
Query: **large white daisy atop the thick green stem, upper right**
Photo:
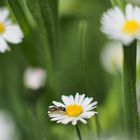
[[127, 4], [125, 12], [114, 7], [105, 12], [101, 18], [101, 30], [109, 38], [129, 45], [140, 39], [140, 8]]

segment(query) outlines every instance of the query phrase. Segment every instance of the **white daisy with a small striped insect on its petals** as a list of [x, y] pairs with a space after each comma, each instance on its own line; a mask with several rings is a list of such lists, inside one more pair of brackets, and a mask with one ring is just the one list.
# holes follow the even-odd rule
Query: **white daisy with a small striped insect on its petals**
[[97, 107], [97, 102], [93, 102], [93, 98], [85, 97], [85, 94], [76, 93], [75, 97], [63, 95], [62, 101], [63, 103], [53, 101], [53, 105], [49, 107], [51, 121], [62, 124], [72, 122], [72, 125], [76, 125], [78, 121], [87, 123], [86, 119], [97, 113], [92, 110]]

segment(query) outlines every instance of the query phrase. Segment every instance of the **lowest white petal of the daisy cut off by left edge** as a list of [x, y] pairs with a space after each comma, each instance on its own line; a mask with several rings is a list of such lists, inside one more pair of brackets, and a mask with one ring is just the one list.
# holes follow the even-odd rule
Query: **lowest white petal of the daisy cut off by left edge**
[[0, 53], [4, 53], [7, 50], [10, 50], [8, 44], [2, 37], [0, 37]]

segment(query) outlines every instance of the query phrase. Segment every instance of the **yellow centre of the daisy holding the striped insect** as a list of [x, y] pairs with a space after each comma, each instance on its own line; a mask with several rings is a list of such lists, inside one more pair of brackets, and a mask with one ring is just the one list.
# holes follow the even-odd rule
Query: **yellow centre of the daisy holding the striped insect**
[[69, 105], [66, 107], [66, 114], [71, 117], [77, 117], [83, 112], [83, 109], [79, 105]]

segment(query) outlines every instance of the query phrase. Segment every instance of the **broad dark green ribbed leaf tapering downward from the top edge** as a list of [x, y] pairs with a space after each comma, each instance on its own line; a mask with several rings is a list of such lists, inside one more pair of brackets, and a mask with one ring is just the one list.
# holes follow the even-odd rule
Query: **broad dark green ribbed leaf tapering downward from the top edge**
[[53, 57], [59, 48], [58, 0], [38, 0]]

